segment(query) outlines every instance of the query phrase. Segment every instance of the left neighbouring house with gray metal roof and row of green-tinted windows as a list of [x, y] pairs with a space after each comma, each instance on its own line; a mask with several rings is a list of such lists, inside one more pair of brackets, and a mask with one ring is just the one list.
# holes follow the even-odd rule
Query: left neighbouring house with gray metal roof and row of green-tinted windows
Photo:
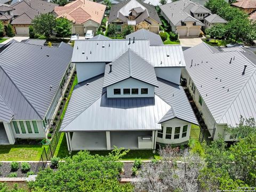
[[[0, 48], [0, 144], [42, 139], [73, 71], [73, 48], [11, 41]], [[17, 51], [18, 50], [18, 51]], [[62, 90], [63, 89], [63, 90]]]

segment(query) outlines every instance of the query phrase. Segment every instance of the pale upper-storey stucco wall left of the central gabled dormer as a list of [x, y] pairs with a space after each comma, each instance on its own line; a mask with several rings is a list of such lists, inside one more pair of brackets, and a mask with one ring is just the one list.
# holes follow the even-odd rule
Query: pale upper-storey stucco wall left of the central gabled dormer
[[76, 63], [78, 83], [105, 73], [105, 62]]

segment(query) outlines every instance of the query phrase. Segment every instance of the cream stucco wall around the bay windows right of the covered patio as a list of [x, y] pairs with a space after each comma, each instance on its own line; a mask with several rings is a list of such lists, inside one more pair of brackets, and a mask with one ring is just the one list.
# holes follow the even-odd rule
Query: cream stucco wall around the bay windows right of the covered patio
[[[184, 125], [188, 125], [188, 129], [187, 129], [187, 135], [186, 137], [181, 137], [182, 136], [182, 127]], [[171, 119], [169, 121], [166, 121], [164, 123], [161, 124], [161, 126], [163, 126], [163, 138], [156, 138], [156, 142], [159, 143], [164, 143], [164, 144], [179, 144], [179, 143], [185, 143], [188, 142], [189, 140], [189, 136], [190, 136], [190, 130], [191, 130], [191, 123], [188, 123], [186, 121], [183, 121], [181, 119]], [[166, 127], [172, 127], [172, 135], [171, 135], [171, 139], [165, 139], [166, 136]], [[175, 127], [181, 127], [180, 128], [180, 136], [179, 139], [174, 139], [174, 131], [175, 131]]]

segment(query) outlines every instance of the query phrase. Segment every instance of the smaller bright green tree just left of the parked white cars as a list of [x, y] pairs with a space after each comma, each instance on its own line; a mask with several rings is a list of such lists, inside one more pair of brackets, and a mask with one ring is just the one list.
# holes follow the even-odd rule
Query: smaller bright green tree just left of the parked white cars
[[55, 22], [56, 25], [54, 31], [57, 33], [57, 35], [63, 38], [65, 36], [71, 35], [72, 23], [69, 20], [67, 20], [66, 18], [58, 18]]

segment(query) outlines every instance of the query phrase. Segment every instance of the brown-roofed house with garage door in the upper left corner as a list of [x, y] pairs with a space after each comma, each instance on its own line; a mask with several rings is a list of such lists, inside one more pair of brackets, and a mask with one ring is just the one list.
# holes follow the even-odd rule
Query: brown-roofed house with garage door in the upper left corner
[[10, 6], [13, 9], [11, 24], [15, 33], [17, 35], [29, 35], [29, 26], [32, 20], [39, 14], [53, 12], [55, 6], [58, 5], [41, 0], [22, 0], [12, 4]]

